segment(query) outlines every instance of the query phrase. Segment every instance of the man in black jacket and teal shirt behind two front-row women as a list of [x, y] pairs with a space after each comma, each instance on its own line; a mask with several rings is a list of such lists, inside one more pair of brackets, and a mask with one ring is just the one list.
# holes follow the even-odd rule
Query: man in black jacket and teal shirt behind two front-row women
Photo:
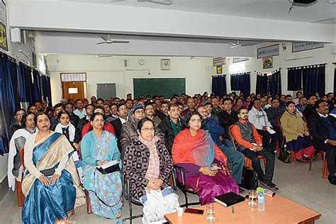
[[172, 155], [174, 138], [181, 131], [180, 114], [181, 109], [179, 105], [172, 104], [168, 108], [168, 116], [159, 123], [159, 129], [164, 135], [164, 145], [166, 145], [170, 155]]

